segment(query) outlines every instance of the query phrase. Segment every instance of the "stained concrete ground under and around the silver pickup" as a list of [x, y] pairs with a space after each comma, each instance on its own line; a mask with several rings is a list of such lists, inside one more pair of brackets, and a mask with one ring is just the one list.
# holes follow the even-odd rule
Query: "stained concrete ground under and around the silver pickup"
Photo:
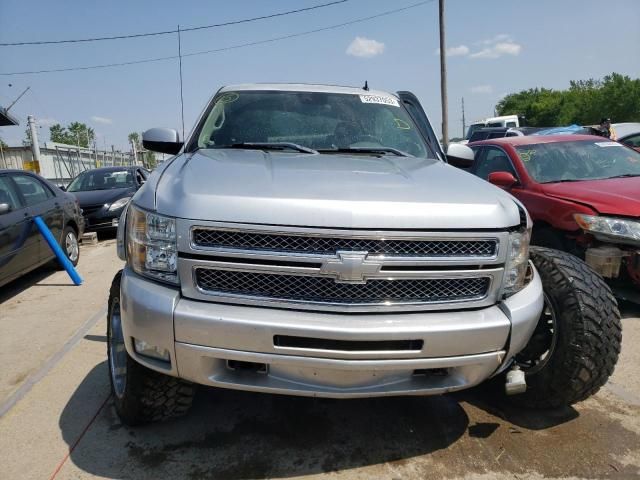
[[615, 375], [575, 408], [518, 411], [488, 388], [349, 401], [201, 389], [187, 417], [127, 428], [106, 366], [114, 243], [82, 248], [80, 287], [41, 270], [0, 292], [0, 478], [640, 478], [630, 305]]

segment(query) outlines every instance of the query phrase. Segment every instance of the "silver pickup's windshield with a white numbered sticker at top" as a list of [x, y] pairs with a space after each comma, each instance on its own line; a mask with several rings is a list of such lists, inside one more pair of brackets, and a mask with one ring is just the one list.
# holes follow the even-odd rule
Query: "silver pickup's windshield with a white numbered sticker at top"
[[387, 148], [433, 156], [396, 97], [239, 91], [219, 95], [198, 133], [199, 148], [293, 143], [318, 151]]

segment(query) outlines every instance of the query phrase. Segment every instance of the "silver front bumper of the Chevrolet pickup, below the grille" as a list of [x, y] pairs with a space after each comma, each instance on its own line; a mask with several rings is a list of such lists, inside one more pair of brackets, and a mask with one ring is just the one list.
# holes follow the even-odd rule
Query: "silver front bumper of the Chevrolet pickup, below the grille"
[[[430, 395], [477, 385], [524, 348], [543, 306], [535, 270], [527, 287], [499, 305], [461, 311], [340, 314], [200, 302], [128, 268], [121, 293], [127, 351], [149, 368], [203, 385], [334, 398]], [[276, 337], [336, 347], [281, 346]], [[139, 355], [134, 338], [168, 350], [171, 361]], [[413, 346], [376, 347], [390, 340]], [[351, 348], [358, 342], [370, 343]]]

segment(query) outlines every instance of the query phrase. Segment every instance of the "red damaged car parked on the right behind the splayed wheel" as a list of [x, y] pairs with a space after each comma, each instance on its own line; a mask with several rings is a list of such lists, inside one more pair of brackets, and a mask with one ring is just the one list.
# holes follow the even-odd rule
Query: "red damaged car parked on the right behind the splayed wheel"
[[475, 153], [470, 172], [529, 210], [533, 244], [583, 258], [623, 296], [640, 300], [640, 153], [590, 135], [469, 146]]

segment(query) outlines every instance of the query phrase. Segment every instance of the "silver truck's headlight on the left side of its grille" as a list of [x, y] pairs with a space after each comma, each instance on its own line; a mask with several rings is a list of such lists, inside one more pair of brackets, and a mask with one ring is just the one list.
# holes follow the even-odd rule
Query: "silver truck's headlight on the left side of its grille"
[[178, 284], [175, 219], [131, 205], [127, 214], [127, 261], [140, 275]]

